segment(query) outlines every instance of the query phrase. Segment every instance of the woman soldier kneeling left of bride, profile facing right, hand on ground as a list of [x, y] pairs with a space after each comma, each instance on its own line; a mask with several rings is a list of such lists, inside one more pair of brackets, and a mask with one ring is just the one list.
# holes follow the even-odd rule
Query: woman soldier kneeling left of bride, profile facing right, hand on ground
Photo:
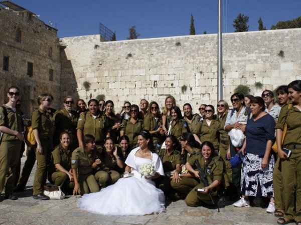
[[92, 171], [101, 161], [99, 158], [95, 159], [95, 154], [94, 136], [85, 134], [83, 145], [76, 148], [71, 157], [74, 195], [99, 191], [99, 186]]

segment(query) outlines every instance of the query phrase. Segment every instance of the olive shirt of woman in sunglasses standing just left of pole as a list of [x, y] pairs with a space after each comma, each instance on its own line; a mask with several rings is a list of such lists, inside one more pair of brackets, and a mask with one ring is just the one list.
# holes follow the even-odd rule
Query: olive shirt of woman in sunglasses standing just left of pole
[[218, 155], [218, 137], [219, 137], [219, 124], [220, 122], [216, 119], [212, 119], [210, 126], [207, 123], [207, 120], [199, 122], [196, 128], [195, 134], [200, 137], [201, 142], [210, 141], [214, 146], [214, 155]]

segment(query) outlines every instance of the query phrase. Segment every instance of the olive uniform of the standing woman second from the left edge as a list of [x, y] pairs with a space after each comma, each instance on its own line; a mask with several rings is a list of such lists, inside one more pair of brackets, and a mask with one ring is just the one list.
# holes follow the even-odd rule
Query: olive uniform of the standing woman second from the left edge
[[[35, 109], [31, 116], [32, 127], [39, 132], [39, 138], [42, 145], [42, 154], [36, 150], [37, 169], [34, 178], [34, 195], [43, 193], [43, 186], [47, 179], [47, 167], [50, 163], [51, 156], [51, 135], [52, 135], [52, 119], [48, 112], [43, 112], [39, 107]], [[37, 147], [37, 144], [36, 144]]]

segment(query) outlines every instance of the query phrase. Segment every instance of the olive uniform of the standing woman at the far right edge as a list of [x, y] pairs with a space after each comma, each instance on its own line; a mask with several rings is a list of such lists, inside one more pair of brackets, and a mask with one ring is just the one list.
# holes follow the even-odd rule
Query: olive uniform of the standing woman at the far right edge
[[287, 117], [283, 146], [291, 150], [291, 155], [280, 161], [283, 183], [281, 193], [284, 217], [301, 220], [301, 111], [292, 106], [286, 116], [287, 108], [288, 104], [282, 107], [275, 126], [276, 129], [283, 130]]

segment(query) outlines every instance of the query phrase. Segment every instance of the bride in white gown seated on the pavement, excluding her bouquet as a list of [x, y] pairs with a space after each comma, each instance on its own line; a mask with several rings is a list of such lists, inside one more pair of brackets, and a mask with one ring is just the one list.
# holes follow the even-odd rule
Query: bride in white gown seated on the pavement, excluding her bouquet
[[[84, 194], [77, 202], [82, 209], [109, 215], [144, 215], [165, 209], [164, 193], [152, 181], [164, 175], [164, 170], [160, 157], [153, 152], [148, 130], [141, 130], [138, 144], [125, 160], [125, 173], [131, 172], [133, 176], [120, 178], [99, 192]], [[141, 176], [138, 169], [142, 163], [152, 163], [156, 173], [151, 177]]]

